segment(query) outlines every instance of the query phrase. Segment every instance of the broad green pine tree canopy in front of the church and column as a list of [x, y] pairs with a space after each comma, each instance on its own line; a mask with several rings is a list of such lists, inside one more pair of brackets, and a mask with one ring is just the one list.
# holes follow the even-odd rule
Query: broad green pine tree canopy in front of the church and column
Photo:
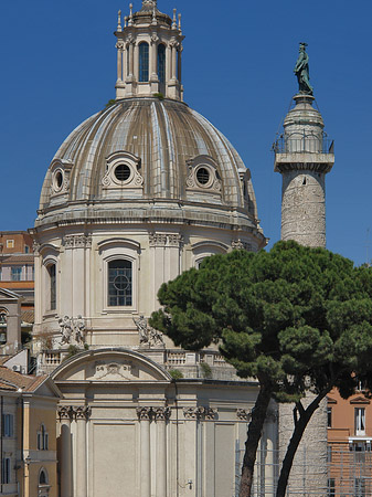
[[279, 401], [357, 381], [372, 385], [372, 271], [325, 248], [278, 242], [205, 258], [163, 284], [150, 324], [176, 346], [212, 342]]

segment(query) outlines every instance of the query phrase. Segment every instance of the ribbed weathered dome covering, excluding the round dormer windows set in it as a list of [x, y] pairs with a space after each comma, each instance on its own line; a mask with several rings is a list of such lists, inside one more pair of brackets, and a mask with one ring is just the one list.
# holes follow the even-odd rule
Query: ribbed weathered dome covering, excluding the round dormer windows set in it
[[[221, 179], [220, 197], [203, 193], [202, 202], [247, 209], [256, 218], [256, 203], [249, 178], [248, 202], [244, 200], [241, 176], [246, 171], [236, 150], [204, 117], [185, 104], [158, 98], [126, 98], [89, 117], [63, 142], [46, 173], [40, 209], [70, 202], [99, 202], [108, 198], [130, 198], [130, 191], [117, 189], [111, 197], [103, 179], [107, 158], [129, 152], [139, 159], [142, 199], [193, 201], [188, 192], [188, 165], [206, 156], [216, 166]], [[203, 160], [201, 160], [203, 161]], [[68, 166], [65, 194], [53, 190], [56, 162]], [[114, 195], [114, 197], [113, 197]], [[138, 193], [135, 195], [140, 200]], [[198, 202], [200, 198], [198, 199]]]

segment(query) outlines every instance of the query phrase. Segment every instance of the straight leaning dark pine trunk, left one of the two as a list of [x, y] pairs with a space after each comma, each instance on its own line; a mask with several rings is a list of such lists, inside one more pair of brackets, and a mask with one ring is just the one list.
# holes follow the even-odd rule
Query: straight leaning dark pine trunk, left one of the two
[[240, 497], [251, 497], [253, 470], [256, 462], [258, 442], [263, 433], [263, 426], [272, 393], [272, 389], [261, 384], [255, 406], [252, 410], [252, 419], [248, 425], [247, 440], [245, 442], [241, 487], [238, 493]]

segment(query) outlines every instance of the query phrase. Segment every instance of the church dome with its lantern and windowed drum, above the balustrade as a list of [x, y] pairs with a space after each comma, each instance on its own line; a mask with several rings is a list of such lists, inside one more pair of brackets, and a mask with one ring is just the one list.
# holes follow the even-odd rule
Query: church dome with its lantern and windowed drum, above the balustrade
[[81, 347], [81, 328], [89, 347], [159, 346], [146, 319], [164, 282], [267, 242], [249, 170], [183, 102], [180, 15], [156, 0], [129, 9], [115, 32], [116, 99], [61, 145], [32, 230], [34, 334], [57, 348]]

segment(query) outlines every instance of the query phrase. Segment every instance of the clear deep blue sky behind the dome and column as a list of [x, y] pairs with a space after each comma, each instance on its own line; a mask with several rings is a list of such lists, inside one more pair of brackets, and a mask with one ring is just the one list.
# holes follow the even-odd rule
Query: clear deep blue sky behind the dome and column
[[[129, 2], [128, 2], [129, 3]], [[46, 168], [83, 119], [115, 97], [113, 32], [121, 0], [18, 0], [0, 6], [0, 230], [32, 226]], [[134, 1], [135, 10], [141, 1]], [[298, 42], [326, 131], [327, 246], [372, 258], [371, 0], [158, 0], [182, 13], [185, 102], [251, 169], [262, 226], [280, 237], [281, 178], [270, 146], [297, 91]], [[370, 230], [371, 229], [371, 230]]]

